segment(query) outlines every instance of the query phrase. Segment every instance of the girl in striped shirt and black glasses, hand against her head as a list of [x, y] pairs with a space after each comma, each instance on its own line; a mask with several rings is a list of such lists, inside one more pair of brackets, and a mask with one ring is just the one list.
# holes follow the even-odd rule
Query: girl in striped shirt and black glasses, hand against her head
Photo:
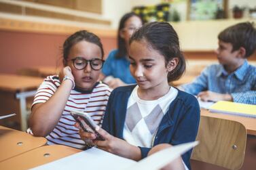
[[107, 85], [97, 82], [103, 56], [100, 39], [86, 30], [65, 41], [62, 78], [47, 77], [35, 95], [29, 121], [33, 135], [46, 137], [48, 144], [84, 148], [70, 111], [88, 112], [101, 125], [111, 92]]

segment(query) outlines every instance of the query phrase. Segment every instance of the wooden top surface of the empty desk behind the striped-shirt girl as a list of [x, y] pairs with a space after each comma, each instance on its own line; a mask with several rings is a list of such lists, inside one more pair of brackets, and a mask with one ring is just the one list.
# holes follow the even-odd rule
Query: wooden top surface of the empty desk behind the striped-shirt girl
[[0, 73], [0, 90], [20, 92], [35, 90], [43, 82], [42, 78]]

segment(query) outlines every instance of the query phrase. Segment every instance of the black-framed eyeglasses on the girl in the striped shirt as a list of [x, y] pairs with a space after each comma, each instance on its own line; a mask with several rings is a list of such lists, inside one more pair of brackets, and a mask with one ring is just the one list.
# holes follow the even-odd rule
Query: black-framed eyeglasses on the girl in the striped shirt
[[94, 58], [92, 60], [86, 60], [81, 57], [73, 58], [71, 59], [73, 61], [73, 65], [77, 70], [83, 70], [86, 68], [88, 62], [90, 63], [90, 66], [93, 70], [100, 70], [103, 68], [104, 60], [101, 60], [99, 58]]

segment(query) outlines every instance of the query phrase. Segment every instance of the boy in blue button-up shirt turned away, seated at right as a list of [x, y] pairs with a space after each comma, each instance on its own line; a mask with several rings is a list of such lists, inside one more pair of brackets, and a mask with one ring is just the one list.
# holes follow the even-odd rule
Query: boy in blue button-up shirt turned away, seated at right
[[250, 22], [230, 26], [219, 33], [219, 64], [205, 68], [193, 83], [180, 89], [202, 101], [220, 100], [256, 104], [256, 67], [249, 58], [256, 49], [256, 29]]

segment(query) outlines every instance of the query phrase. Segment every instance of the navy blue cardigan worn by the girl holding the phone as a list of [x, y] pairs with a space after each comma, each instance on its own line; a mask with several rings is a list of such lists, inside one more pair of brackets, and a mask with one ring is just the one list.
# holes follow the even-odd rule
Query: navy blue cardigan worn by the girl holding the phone
[[[111, 92], [105, 116], [103, 129], [111, 135], [124, 139], [123, 130], [126, 119], [128, 98], [136, 85], [118, 87]], [[196, 140], [200, 120], [200, 107], [194, 95], [178, 89], [178, 95], [169, 106], [156, 133], [153, 146], [168, 143], [172, 145], [183, 144]], [[151, 148], [141, 149], [142, 158], [147, 156]], [[183, 162], [190, 169], [189, 159], [192, 150], [182, 155]]]

